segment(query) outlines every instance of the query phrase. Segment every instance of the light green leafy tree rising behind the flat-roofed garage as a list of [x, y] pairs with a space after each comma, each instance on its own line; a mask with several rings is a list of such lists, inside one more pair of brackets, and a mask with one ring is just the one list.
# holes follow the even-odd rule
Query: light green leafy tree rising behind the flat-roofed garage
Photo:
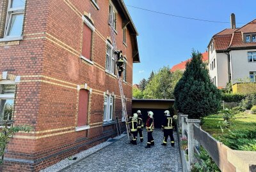
[[[150, 75], [151, 76], [151, 75]], [[171, 92], [172, 73], [169, 66], [164, 66], [154, 75], [144, 90], [146, 99], [170, 99], [173, 97]]]

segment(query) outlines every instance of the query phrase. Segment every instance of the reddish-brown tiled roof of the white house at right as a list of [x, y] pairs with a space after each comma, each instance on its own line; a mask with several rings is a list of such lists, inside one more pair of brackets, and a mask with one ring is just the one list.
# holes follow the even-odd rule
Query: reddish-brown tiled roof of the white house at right
[[256, 34], [256, 20], [249, 22], [239, 29], [224, 29], [223, 31], [215, 34], [212, 37], [215, 49], [220, 51], [228, 50], [228, 48], [256, 47], [256, 43], [244, 43], [244, 33]]

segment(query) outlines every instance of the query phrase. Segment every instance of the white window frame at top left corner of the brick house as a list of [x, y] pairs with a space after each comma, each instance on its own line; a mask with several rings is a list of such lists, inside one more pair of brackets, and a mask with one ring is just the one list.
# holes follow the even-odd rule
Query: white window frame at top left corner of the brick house
[[[26, 0], [24, 0], [26, 1]], [[20, 34], [20, 36], [7, 36], [8, 32], [10, 32], [10, 23], [12, 21], [12, 15], [13, 14], [19, 14], [22, 13], [23, 17], [24, 17], [24, 10], [25, 10], [25, 4], [24, 7], [20, 7], [20, 8], [10, 8], [11, 6], [11, 2], [12, 0], [8, 1], [8, 8], [7, 8], [7, 15], [6, 15], [6, 24], [4, 27], [4, 38], [17, 38], [17, 39], [22, 39], [22, 36]], [[23, 24], [23, 21], [22, 21]], [[22, 32], [22, 31], [21, 31]]]

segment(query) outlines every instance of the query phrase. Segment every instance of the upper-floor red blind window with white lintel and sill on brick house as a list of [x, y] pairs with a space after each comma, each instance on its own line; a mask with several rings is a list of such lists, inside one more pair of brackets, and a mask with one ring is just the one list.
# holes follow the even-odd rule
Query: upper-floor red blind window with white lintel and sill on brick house
[[83, 44], [82, 44], [82, 54], [81, 59], [88, 61], [93, 64], [92, 62], [92, 36], [93, 31], [95, 31], [95, 27], [93, 26], [92, 21], [83, 16]]

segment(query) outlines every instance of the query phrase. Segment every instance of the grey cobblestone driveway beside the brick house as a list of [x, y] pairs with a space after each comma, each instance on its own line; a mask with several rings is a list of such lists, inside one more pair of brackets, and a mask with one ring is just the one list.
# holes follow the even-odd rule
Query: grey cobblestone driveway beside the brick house
[[[126, 136], [61, 172], [182, 171], [177, 143], [175, 147], [171, 147], [170, 138], [168, 138], [167, 147], [162, 146], [163, 132], [155, 129], [153, 132], [155, 146], [145, 148], [147, 133], [144, 131], [143, 134], [143, 143], [138, 140], [138, 145], [130, 145]], [[176, 142], [177, 134], [173, 135]]]

